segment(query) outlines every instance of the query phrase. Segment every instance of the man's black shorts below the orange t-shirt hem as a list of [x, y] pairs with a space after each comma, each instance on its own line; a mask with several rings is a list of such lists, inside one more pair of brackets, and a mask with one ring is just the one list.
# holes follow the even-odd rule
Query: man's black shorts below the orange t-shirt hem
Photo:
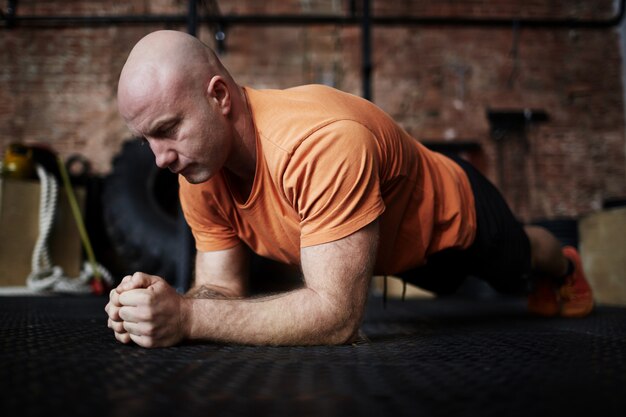
[[476, 202], [476, 238], [465, 250], [445, 249], [434, 253], [426, 265], [398, 276], [440, 295], [454, 293], [468, 276], [487, 281], [501, 293], [527, 291], [530, 242], [523, 225], [487, 178], [467, 161], [449, 157], [469, 178]]

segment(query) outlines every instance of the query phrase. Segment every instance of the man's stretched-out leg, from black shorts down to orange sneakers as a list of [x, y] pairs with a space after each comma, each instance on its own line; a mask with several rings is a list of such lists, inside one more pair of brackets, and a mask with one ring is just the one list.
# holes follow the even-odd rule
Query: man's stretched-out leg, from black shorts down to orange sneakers
[[561, 248], [546, 229], [522, 226], [506, 201], [476, 168], [451, 157], [466, 172], [476, 202], [477, 234], [467, 253], [474, 274], [496, 290], [532, 290], [528, 308], [543, 316], [581, 317], [593, 309], [593, 295], [575, 248]]

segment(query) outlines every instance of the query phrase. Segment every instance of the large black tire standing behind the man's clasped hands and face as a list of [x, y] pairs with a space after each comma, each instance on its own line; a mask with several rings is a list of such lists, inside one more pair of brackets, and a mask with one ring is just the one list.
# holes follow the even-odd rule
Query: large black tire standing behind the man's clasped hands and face
[[125, 274], [141, 271], [176, 283], [180, 262], [189, 258], [180, 239], [178, 180], [155, 165], [148, 146], [123, 144], [104, 180], [102, 210]]

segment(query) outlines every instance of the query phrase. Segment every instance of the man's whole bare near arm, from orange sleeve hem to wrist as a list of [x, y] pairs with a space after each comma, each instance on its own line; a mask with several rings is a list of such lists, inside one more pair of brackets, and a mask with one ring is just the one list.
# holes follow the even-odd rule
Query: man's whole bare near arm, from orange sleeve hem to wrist
[[254, 345], [349, 342], [358, 334], [377, 242], [373, 221], [345, 238], [302, 248], [305, 288], [253, 299], [184, 298], [185, 337]]

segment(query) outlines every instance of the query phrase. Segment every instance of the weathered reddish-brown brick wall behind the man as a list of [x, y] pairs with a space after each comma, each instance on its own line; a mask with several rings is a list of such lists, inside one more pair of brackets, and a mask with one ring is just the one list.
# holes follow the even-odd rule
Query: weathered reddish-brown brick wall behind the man
[[[211, 3], [210, 1], [203, 2]], [[350, 1], [218, 1], [222, 14], [346, 14]], [[360, 5], [357, 3], [357, 11]], [[374, 0], [376, 16], [607, 19], [613, 0]], [[187, 1], [26, 1], [18, 15], [184, 14]], [[200, 12], [202, 12], [202, 7]], [[13, 141], [80, 153], [110, 169], [128, 132], [115, 89], [141, 36], [176, 25], [33, 28], [0, 36], [0, 149]], [[198, 36], [213, 44], [213, 29]], [[616, 28], [413, 25], [373, 29], [373, 100], [417, 138], [481, 145], [480, 168], [524, 220], [579, 216], [626, 197], [622, 56]], [[232, 26], [223, 60], [258, 88], [325, 83], [361, 92], [357, 26]], [[548, 120], [493, 140], [488, 110]]]

